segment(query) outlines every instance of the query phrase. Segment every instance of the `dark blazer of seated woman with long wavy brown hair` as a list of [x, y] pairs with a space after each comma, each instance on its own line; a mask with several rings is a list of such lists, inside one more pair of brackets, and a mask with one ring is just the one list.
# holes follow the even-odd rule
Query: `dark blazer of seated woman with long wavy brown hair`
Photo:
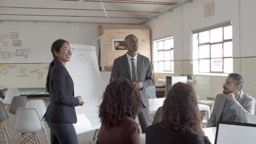
[[171, 131], [162, 127], [161, 123], [150, 125], [146, 132], [146, 144], [210, 144], [207, 136], [202, 137], [193, 131]]

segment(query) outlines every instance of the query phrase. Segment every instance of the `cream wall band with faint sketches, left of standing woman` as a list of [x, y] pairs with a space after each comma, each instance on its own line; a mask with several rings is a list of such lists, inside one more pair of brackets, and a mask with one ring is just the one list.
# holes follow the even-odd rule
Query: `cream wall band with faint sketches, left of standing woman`
[[0, 64], [0, 89], [45, 87], [49, 63]]

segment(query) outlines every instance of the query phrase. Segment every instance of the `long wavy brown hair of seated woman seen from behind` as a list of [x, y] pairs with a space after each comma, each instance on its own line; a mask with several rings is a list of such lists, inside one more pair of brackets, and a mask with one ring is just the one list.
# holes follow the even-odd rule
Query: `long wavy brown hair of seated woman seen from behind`
[[192, 86], [178, 82], [171, 87], [162, 107], [162, 125], [168, 130], [189, 130], [204, 136]]

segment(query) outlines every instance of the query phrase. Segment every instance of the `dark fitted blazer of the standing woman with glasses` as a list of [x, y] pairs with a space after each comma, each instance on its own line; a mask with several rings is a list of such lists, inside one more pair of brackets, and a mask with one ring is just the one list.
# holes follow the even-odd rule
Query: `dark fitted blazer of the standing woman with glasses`
[[50, 75], [51, 102], [45, 113], [45, 121], [54, 123], [77, 123], [74, 106], [79, 105], [74, 97], [74, 83], [65, 66], [54, 60]]

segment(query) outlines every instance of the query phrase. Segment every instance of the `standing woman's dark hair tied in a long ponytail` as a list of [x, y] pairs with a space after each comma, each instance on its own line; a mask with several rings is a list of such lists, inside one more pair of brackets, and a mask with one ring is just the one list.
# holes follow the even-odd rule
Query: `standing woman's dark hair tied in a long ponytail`
[[[60, 52], [60, 49], [64, 43], [68, 43], [68, 41], [63, 40], [63, 39], [58, 39], [58, 40], [54, 41], [53, 45], [51, 45], [51, 53], [53, 54], [54, 58], [55, 58], [54, 53]], [[49, 81], [50, 81], [50, 76], [51, 76], [51, 68], [53, 68], [53, 65], [54, 65], [54, 61], [52, 61], [49, 65], [48, 75], [46, 78], [46, 92], [49, 92], [49, 93], [50, 93], [50, 87], [49, 87], [50, 82]]]

